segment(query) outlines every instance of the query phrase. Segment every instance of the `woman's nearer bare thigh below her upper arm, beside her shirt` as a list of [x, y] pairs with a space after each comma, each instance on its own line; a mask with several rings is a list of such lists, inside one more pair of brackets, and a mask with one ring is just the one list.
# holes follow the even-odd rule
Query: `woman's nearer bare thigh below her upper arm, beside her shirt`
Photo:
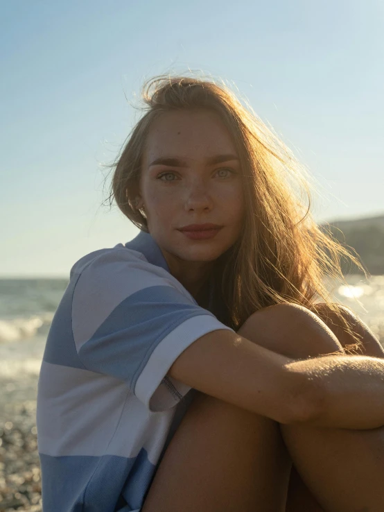
[[143, 512], [284, 512], [290, 468], [279, 423], [197, 393]]

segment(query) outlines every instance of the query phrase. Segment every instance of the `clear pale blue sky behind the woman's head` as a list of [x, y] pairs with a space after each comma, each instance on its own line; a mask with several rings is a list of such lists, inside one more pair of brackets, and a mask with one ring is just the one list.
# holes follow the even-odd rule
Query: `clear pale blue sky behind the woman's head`
[[0, 275], [68, 277], [136, 236], [105, 164], [158, 74], [248, 101], [310, 172], [316, 221], [384, 214], [383, 34], [381, 0], [3, 0]]

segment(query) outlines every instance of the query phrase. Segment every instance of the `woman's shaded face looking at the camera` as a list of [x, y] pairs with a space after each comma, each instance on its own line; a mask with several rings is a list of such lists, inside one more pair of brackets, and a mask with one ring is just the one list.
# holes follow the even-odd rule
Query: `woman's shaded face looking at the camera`
[[[168, 264], [172, 259], [212, 262], [234, 244], [245, 210], [241, 167], [218, 114], [164, 112], [152, 123], [138, 206], [144, 206], [148, 230]], [[202, 223], [222, 228], [209, 239], [191, 239], [180, 231]]]

